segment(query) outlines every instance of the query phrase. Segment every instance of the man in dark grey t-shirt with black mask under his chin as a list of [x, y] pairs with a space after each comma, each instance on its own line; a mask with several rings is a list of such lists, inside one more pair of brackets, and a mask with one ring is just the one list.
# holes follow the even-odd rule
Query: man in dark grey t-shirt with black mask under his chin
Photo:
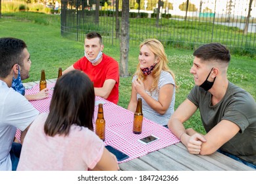
[[[256, 169], [256, 103], [247, 91], [228, 81], [230, 52], [220, 43], [209, 43], [193, 56], [190, 73], [195, 87], [170, 118], [169, 129], [191, 154], [219, 150]], [[183, 126], [197, 108], [206, 135]]]

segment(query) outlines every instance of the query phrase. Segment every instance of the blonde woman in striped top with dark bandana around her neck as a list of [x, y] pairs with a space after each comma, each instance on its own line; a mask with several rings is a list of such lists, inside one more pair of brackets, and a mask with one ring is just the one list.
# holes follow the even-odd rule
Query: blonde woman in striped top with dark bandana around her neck
[[145, 39], [138, 58], [128, 110], [135, 112], [137, 100], [141, 98], [144, 117], [166, 126], [174, 113], [176, 85], [174, 74], [167, 66], [165, 48], [157, 39]]

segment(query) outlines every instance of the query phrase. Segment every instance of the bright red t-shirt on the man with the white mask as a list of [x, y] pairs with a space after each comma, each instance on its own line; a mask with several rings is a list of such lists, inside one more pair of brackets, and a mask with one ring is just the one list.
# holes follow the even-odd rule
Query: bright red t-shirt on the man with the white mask
[[86, 57], [80, 58], [73, 66], [76, 70], [86, 73], [94, 87], [103, 87], [105, 80], [115, 80], [116, 83], [107, 100], [115, 104], [118, 103], [119, 69], [115, 59], [103, 53], [101, 62], [96, 66], [93, 66]]

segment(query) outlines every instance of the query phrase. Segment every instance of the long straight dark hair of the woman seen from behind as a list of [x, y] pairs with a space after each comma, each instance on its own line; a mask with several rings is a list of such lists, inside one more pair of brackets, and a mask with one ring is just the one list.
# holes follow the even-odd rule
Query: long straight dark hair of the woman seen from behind
[[49, 115], [45, 121], [46, 135], [68, 135], [70, 127], [88, 127], [93, 131], [95, 94], [90, 78], [80, 70], [72, 70], [55, 84]]

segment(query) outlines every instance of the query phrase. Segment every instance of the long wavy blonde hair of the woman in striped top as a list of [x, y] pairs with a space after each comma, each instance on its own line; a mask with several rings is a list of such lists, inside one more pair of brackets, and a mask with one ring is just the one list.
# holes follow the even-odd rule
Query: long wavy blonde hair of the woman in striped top
[[[157, 89], [158, 81], [159, 81], [160, 74], [161, 74], [162, 70], [166, 71], [166, 72], [169, 72], [172, 75], [172, 78], [174, 79], [174, 82], [175, 82], [174, 73], [172, 72], [172, 70], [170, 70], [170, 68], [167, 65], [168, 59], [167, 59], [167, 55], [165, 53], [165, 48], [163, 47], [163, 44], [157, 39], [145, 39], [140, 44], [140, 49], [143, 45], [147, 45], [149, 50], [155, 55], [155, 58], [159, 59], [159, 62], [157, 62], [157, 64], [155, 65], [154, 70], [151, 72], [154, 80], [153, 80], [153, 83], [151, 85], [150, 91], [154, 91], [155, 89]], [[134, 75], [137, 75], [138, 78], [142, 81], [144, 81], [145, 78], [147, 78], [147, 76], [145, 76], [143, 74], [143, 72], [141, 72], [140, 62], [138, 63], [137, 70], [136, 70]]]

